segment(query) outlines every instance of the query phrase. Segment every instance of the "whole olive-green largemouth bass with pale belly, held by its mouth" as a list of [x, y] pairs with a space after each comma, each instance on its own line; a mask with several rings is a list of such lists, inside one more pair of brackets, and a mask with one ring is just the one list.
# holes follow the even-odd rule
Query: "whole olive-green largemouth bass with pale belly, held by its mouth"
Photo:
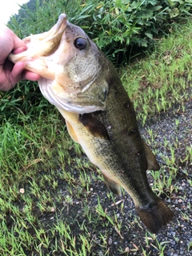
[[28, 49], [10, 54], [11, 62], [41, 75], [42, 95], [62, 114], [74, 142], [101, 170], [118, 196], [122, 188], [150, 232], [158, 233], [174, 213], [147, 180], [146, 170], [160, 166], [138, 130], [134, 105], [114, 65], [102, 50], [60, 14], [47, 32], [23, 39]]

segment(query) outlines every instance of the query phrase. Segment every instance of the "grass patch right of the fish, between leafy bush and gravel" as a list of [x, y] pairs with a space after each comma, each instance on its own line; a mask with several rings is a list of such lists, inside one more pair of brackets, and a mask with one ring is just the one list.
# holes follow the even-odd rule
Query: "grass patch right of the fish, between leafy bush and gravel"
[[[162, 38], [152, 53], [122, 70], [122, 82], [134, 102], [138, 119], [166, 111], [178, 103], [183, 111], [191, 96], [191, 34], [180, 26], [178, 33]], [[185, 34], [181, 37], [180, 34]]]

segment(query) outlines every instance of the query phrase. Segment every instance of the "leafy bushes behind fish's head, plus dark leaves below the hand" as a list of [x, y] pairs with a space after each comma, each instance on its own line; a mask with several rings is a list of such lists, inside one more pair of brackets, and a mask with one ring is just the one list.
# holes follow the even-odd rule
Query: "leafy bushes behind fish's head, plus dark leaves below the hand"
[[[122, 56], [130, 47], [149, 47], [154, 38], [169, 33], [174, 22], [191, 17], [192, 0], [31, 0], [21, 7], [8, 24], [18, 37], [50, 30], [59, 14], [66, 13], [117, 63], [126, 61]], [[17, 117], [18, 110], [36, 113], [47, 104], [35, 83], [19, 82], [17, 89], [0, 94], [0, 118]]]

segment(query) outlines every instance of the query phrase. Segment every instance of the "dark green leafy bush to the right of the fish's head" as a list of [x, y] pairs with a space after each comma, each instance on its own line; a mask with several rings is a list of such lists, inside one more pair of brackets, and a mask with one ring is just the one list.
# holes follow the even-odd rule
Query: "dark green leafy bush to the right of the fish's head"
[[70, 20], [82, 26], [112, 61], [125, 62], [122, 52], [125, 57], [130, 46], [150, 46], [152, 39], [169, 32], [172, 22], [190, 15], [191, 7], [191, 0], [89, 0]]

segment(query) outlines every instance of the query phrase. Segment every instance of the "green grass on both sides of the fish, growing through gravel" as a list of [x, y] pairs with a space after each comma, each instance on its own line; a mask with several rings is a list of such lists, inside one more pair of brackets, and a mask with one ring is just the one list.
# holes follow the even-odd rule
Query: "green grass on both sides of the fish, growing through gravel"
[[[185, 113], [184, 103], [191, 98], [191, 30], [191, 21], [179, 26], [157, 42], [146, 58], [120, 70], [143, 126], [149, 118], [170, 108]], [[173, 126], [177, 130], [178, 119]], [[2, 256], [111, 255], [110, 246], [116, 244], [115, 255], [148, 256], [152, 250], [164, 255], [167, 242], [143, 229], [124, 191], [122, 198], [115, 198], [106, 189], [96, 168], [70, 139], [65, 122], [53, 106], [39, 116], [21, 114], [18, 123], [8, 120], [0, 129]], [[179, 195], [175, 182], [179, 168], [191, 186], [190, 141], [184, 145], [185, 154], [178, 158], [179, 133], [173, 135], [171, 143], [166, 138], [157, 141], [158, 134], [151, 129], [148, 134], [147, 143], [164, 162], [159, 172], [149, 174], [153, 190], [166, 198]], [[184, 201], [186, 194], [180, 199]], [[181, 214], [184, 221], [191, 218]]]

